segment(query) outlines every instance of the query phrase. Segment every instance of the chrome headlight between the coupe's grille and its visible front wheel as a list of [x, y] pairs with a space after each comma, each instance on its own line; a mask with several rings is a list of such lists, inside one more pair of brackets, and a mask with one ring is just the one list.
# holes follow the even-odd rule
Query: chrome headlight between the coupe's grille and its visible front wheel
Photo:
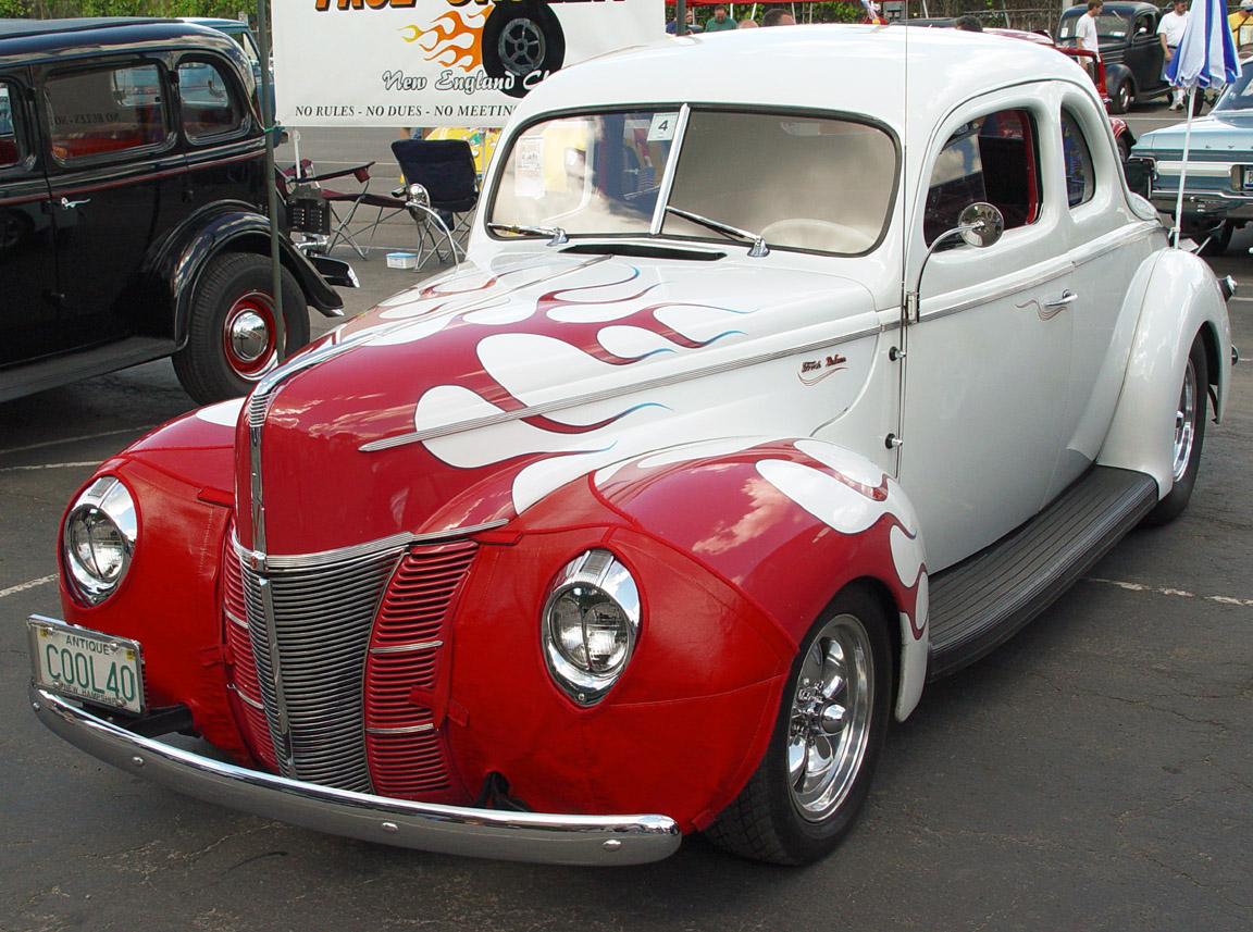
[[558, 574], [544, 603], [544, 659], [580, 705], [595, 705], [621, 676], [639, 635], [639, 590], [608, 550], [588, 550]]

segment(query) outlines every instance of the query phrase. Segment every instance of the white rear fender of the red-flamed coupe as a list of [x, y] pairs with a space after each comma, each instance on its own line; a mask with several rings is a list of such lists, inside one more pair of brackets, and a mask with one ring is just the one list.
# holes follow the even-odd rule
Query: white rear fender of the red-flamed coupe
[[1222, 291], [1203, 259], [1163, 249], [1145, 259], [1145, 272], [1121, 392], [1096, 461], [1153, 476], [1163, 497], [1174, 484], [1174, 420], [1192, 342], [1198, 333], [1205, 341], [1218, 422], [1227, 407], [1232, 337]]

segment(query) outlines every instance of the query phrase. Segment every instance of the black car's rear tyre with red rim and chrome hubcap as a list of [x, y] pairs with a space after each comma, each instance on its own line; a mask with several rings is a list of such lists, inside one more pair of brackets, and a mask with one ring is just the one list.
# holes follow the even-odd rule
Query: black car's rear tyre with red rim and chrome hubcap
[[269, 259], [253, 253], [213, 258], [192, 298], [187, 346], [174, 353], [174, 371], [195, 401], [247, 395], [288, 355], [309, 341], [308, 307], [296, 277], [286, 268], [283, 326], [271, 297]]

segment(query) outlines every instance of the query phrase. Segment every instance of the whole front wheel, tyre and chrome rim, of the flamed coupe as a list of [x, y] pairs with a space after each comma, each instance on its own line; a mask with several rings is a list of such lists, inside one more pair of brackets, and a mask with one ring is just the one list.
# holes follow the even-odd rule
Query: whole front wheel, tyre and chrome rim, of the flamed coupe
[[792, 664], [766, 757], [705, 834], [743, 857], [814, 861], [840, 842], [870, 790], [887, 734], [887, 619], [862, 586], [845, 589]]

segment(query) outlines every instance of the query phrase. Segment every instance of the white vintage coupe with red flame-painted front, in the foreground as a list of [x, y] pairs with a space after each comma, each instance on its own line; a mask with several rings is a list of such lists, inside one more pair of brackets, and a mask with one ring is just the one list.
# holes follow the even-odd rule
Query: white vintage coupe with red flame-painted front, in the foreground
[[469, 256], [96, 470], [29, 620], [49, 728], [396, 846], [804, 863], [928, 680], [1179, 515], [1227, 400], [1223, 288], [1016, 40], [563, 70]]

